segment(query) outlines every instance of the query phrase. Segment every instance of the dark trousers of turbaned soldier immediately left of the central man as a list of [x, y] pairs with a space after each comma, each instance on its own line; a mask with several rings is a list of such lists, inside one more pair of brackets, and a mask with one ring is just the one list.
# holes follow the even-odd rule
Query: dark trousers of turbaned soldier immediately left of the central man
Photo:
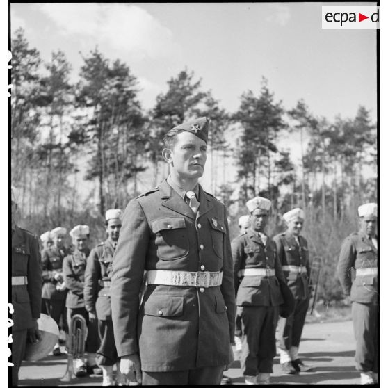
[[97, 349], [97, 365], [111, 366], [119, 362], [118, 352], [113, 336], [113, 323], [108, 320], [98, 321], [99, 348]]

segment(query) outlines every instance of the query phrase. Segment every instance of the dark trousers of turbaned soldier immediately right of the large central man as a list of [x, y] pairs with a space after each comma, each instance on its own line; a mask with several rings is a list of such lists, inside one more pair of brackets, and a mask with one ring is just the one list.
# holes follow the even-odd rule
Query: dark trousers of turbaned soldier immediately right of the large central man
[[273, 372], [279, 306], [237, 306], [241, 317], [241, 371], [243, 375]]

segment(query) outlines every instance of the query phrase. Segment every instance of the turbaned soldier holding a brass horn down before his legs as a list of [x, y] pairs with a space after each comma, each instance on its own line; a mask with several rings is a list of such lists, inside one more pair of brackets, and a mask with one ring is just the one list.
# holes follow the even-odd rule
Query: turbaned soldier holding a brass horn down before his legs
[[77, 377], [86, 374], [101, 374], [96, 365], [96, 350], [98, 348], [97, 322], [89, 321], [88, 312], [83, 299], [86, 259], [89, 256], [88, 240], [90, 229], [88, 225], [76, 225], [71, 231], [74, 252], [63, 259], [63, 279], [69, 290], [66, 297], [67, 325], [70, 328], [72, 317], [80, 314], [85, 318], [88, 328], [85, 351], [86, 363], [83, 359], [74, 359], [74, 373]]

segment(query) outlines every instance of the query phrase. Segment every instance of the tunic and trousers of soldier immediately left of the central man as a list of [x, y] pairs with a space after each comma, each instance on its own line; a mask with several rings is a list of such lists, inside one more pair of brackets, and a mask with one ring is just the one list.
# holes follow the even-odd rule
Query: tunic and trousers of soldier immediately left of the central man
[[110, 366], [118, 362], [113, 337], [111, 314], [111, 273], [115, 249], [107, 239], [95, 247], [88, 257], [83, 289], [88, 312], [97, 314], [100, 345], [97, 349], [97, 364]]

